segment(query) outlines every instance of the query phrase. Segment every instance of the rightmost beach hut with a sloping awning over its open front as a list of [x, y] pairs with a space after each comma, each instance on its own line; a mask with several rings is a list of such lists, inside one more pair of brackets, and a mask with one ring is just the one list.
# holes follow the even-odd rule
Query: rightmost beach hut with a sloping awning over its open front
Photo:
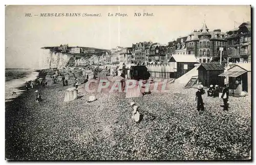
[[251, 63], [237, 63], [219, 76], [227, 78], [233, 96], [242, 91], [251, 95]]

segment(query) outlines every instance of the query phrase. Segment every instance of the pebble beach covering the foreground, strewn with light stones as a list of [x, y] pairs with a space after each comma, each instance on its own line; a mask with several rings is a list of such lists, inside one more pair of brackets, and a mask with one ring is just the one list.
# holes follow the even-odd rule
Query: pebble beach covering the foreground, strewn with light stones
[[[57, 82], [6, 103], [8, 160], [213, 160], [250, 159], [251, 98], [230, 97], [223, 111], [219, 98], [203, 95], [199, 114], [195, 88], [169, 84], [167, 93], [125, 98], [120, 92], [88, 93], [63, 102], [72, 87]], [[88, 103], [95, 95], [97, 100]], [[141, 114], [132, 119], [131, 102]]]

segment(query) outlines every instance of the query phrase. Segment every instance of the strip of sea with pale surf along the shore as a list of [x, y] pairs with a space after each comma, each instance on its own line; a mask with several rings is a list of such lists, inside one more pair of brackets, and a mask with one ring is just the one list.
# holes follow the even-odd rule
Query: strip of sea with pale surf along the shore
[[[38, 72], [34, 69], [5, 69], [5, 101], [12, 101], [14, 98], [22, 95], [25, 90], [19, 89], [25, 85], [26, 81], [35, 80]], [[13, 92], [16, 92], [13, 95]]]

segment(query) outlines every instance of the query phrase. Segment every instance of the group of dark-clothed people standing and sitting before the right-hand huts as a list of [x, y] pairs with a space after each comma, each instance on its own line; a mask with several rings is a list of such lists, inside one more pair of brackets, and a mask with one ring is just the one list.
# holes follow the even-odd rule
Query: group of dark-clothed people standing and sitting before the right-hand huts
[[[221, 105], [223, 107], [223, 110], [228, 110], [229, 107], [229, 103], [228, 103], [228, 95], [229, 95], [229, 89], [228, 89], [229, 85], [225, 84], [224, 88], [222, 90], [222, 94], [221, 94], [221, 98], [223, 100], [224, 105]], [[199, 82], [198, 85], [198, 91], [196, 92], [196, 98], [195, 101], [197, 103], [197, 110], [201, 113], [204, 110], [204, 102], [203, 102], [203, 98], [202, 95], [204, 95], [205, 90], [203, 88], [203, 85], [201, 82]], [[215, 87], [213, 85], [210, 85], [210, 88], [207, 90], [207, 95], [209, 97], [219, 97], [219, 93], [220, 93], [220, 88], [218, 85], [215, 85]]]

